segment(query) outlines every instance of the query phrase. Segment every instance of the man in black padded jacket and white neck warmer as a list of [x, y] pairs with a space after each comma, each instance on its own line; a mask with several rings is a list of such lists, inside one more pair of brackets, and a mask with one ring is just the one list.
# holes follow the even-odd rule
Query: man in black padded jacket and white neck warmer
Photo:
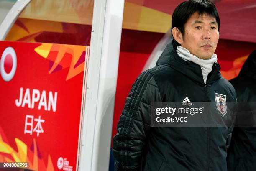
[[187, 97], [215, 103], [215, 93], [236, 101], [233, 86], [221, 77], [216, 63], [219, 30], [218, 12], [208, 0], [189, 0], [174, 10], [174, 40], [156, 66], [136, 79], [120, 116], [113, 138], [116, 171], [227, 170], [232, 128], [151, 127], [151, 102], [182, 102]]

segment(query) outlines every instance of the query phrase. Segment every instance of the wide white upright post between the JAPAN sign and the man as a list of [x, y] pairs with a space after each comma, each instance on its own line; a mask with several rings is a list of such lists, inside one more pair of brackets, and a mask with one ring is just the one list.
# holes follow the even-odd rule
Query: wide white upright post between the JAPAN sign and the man
[[95, 0], [79, 171], [108, 171], [124, 0]]

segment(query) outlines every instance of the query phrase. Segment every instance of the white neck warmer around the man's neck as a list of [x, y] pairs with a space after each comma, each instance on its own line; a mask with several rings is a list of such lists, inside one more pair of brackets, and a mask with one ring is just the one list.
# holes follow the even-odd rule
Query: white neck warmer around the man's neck
[[200, 59], [197, 56], [190, 54], [189, 50], [183, 48], [182, 46], [177, 46], [177, 54], [181, 57], [184, 61], [192, 61], [195, 64], [201, 66], [202, 74], [204, 82], [206, 83], [208, 74], [212, 71], [212, 66], [215, 62], [217, 62], [217, 55], [213, 54], [210, 59]]

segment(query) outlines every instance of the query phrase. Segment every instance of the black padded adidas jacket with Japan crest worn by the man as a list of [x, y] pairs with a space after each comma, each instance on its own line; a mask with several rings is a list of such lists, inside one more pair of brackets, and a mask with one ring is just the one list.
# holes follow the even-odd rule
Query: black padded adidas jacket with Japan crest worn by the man
[[132, 86], [113, 138], [116, 171], [227, 170], [232, 128], [151, 127], [152, 101], [182, 102], [188, 97], [191, 102], [215, 102], [215, 92], [236, 101], [219, 64], [213, 65], [205, 84], [201, 67], [181, 59], [174, 48], [167, 45], [156, 66], [140, 74]]

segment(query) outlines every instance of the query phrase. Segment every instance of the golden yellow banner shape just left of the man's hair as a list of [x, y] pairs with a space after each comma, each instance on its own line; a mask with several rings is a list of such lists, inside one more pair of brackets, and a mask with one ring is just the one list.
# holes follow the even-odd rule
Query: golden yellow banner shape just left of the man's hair
[[172, 26], [172, 15], [142, 7], [138, 30], [166, 33]]

